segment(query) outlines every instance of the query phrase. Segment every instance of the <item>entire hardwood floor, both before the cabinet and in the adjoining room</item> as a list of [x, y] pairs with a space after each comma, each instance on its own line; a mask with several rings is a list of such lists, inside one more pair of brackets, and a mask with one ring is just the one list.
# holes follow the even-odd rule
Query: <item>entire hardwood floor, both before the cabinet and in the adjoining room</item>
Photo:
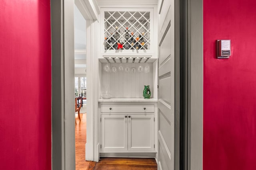
[[100, 158], [99, 162], [85, 160], [86, 113], [76, 114], [76, 170], [157, 170], [154, 158]]

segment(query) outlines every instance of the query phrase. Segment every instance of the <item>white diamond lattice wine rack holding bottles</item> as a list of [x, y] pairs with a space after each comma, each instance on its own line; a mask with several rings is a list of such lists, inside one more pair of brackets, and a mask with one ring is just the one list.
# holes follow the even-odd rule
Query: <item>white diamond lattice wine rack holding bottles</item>
[[104, 12], [104, 48], [150, 49], [150, 12]]

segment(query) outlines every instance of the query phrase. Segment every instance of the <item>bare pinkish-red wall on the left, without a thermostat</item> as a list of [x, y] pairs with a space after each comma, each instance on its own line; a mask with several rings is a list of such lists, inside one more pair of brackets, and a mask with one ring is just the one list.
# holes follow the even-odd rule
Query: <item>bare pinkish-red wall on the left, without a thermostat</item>
[[0, 169], [51, 169], [50, 0], [0, 1]]

